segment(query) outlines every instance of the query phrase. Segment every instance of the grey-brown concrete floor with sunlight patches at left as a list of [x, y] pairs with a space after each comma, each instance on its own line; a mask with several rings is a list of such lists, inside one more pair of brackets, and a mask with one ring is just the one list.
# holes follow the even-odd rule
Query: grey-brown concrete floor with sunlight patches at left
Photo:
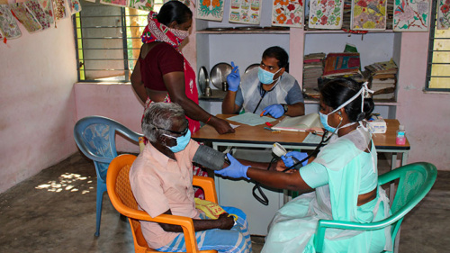
[[[94, 165], [79, 153], [0, 194], [0, 252], [133, 252], [128, 222], [103, 198], [95, 228]], [[439, 171], [428, 196], [401, 226], [400, 252], [450, 248], [450, 172]], [[254, 252], [264, 239], [252, 237]]]

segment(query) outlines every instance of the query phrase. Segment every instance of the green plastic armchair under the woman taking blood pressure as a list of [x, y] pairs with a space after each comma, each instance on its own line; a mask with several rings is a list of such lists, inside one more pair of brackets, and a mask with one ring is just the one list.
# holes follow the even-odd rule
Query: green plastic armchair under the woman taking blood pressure
[[314, 238], [316, 252], [323, 251], [325, 230], [328, 228], [343, 230], [383, 230], [387, 226], [392, 226], [392, 244], [395, 247], [395, 238], [400, 230], [401, 221], [428, 194], [431, 187], [435, 184], [436, 177], [436, 167], [426, 162], [412, 163], [398, 167], [378, 176], [378, 185], [394, 183], [397, 182], [397, 179], [400, 179], [398, 180], [397, 192], [391, 205], [392, 215], [382, 221], [365, 224], [350, 221], [320, 220]]

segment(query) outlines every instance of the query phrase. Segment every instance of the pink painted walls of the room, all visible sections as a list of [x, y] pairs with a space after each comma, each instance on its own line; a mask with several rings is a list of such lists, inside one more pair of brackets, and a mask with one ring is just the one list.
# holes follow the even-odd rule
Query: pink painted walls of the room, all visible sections
[[[29, 34], [0, 44], [0, 193], [77, 152], [73, 139], [76, 120], [103, 115], [140, 132], [142, 105], [130, 85], [76, 84], [76, 54], [71, 19], [58, 28]], [[303, 36], [291, 32], [292, 62], [302, 66]], [[298, 37], [298, 38], [297, 38]], [[301, 40], [302, 41], [302, 40]], [[425, 85], [427, 32], [401, 35], [397, 118], [411, 143], [409, 162], [428, 161], [450, 170], [448, 94], [427, 94]], [[184, 47], [193, 68], [195, 35]], [[301, 77], [298, 77], [301, 78]], [[119, 140], [120, 151], [135, 152], [135, 144]]]

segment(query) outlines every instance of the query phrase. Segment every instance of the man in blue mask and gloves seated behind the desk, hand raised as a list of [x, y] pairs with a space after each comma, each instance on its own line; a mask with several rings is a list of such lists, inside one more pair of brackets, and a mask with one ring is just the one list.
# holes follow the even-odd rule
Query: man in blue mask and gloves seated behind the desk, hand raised
[[280, 47], [270, 47], [263, 53], [259, 68], [253, 68], [240, 79], [238, 66], [227, 77], [229, 91], [222, 104], [222, 113], [245, 112], [271, 115], [301, 116], [305, 113], [302, 89], [286, 72], [289, 56]]

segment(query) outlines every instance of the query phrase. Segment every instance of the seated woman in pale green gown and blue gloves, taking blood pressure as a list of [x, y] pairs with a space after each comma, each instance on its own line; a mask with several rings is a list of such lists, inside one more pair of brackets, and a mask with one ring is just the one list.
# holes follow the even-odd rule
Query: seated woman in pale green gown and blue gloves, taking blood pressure
[[[378, 186], [377, 155], [367, 129], [374, 101], [366, 83], [348, 78], [330, 81], [320, 90], [320, 121], [332, 132], [329, 144], [310, 164], [282, 172], [301, 153], [286, 154], [270, 170], [229, 156], [231, 165], [216, 174], [247, 177], [264, 185], [299, 191], [275, 213], [262, 252], [315, 252], [313, 240], [320, 219], [367, 223], [390, 215], [389, 200]], [[323, 252], [392, 250], [391, 228], [326, 231]]]

